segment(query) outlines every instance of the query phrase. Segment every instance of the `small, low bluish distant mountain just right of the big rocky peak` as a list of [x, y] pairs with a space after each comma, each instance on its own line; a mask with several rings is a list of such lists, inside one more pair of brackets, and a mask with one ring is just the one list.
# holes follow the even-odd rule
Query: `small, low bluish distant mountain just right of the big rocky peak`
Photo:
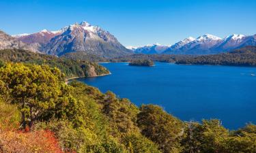
[[143, 47], [127, 47], [136, 54], [160, 54], [167, 50], [169, 46], [162, 46], [158, 43], [153, 45], [147, 45]]

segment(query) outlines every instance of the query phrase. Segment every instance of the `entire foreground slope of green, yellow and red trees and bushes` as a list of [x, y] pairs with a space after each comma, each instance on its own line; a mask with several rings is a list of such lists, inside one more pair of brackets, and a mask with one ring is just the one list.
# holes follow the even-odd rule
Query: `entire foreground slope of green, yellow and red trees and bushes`
[[254, 124], [229, 131], [219, 120], [183, 122], [158, 105], [65, 84], [47, 65], [3, 64], [0, 97], [0, 152], [256, 152]]

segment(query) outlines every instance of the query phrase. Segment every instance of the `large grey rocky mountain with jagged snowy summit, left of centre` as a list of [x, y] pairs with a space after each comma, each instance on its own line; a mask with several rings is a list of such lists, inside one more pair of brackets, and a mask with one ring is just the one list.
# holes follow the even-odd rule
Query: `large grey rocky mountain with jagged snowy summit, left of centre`
[[38, 46], [41, 52], [57, 56], [68, 52], [86, 52], [107, 58], [132, 54], [111, 33], [88, 22], [71, 24], [59, 31], [43, 30], [15, 36], [27, 44]]

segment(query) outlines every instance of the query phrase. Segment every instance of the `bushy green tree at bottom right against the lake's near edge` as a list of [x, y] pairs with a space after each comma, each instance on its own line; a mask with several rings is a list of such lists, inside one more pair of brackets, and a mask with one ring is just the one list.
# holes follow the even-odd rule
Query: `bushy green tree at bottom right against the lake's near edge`
[[184, 152], [227, 152], [229, 131], [220, 120], [202, 120], [202, 124], [189, 122], [186, 137], [182, 141]]

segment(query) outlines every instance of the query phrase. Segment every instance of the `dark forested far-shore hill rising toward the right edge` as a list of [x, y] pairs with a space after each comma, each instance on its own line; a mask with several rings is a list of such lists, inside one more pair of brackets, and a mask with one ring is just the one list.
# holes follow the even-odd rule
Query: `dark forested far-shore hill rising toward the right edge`
[[246, 46], [233, 52], [184, 58], [177, 64], [256, 66], [256, 46]]

